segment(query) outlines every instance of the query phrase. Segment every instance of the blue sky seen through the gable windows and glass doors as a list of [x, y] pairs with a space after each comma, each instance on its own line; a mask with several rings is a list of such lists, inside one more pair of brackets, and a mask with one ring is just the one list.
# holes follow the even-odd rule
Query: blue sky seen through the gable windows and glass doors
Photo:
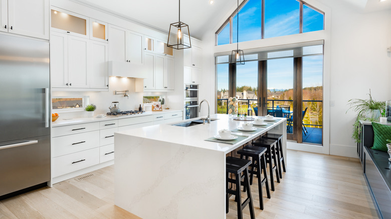
[[[233, 42], [237, 37], [237, 16], [233, 20]], [[303, 32], [323, 29], [323, 14], [304, 5]], [[299, 33], [299, 2], [265, 0], [265, 38]], [[239, 11], [239, 42], [261, 38], [261, 0], [249, 0]], [[218, 44], [229, 43], [229, 25], [218, 36]], [[239, 44], [240, 48], [240, 44]], [[257, 61], [237, 65], [237, 86], [257, 86]], [[322, 85], [322, 55], [303, 57], [303, 86]], [[228, 89], [228, 64], [218, 64], [218, 89]], [[293, 88], [293, 58], [268, 60], [268, 88]]]

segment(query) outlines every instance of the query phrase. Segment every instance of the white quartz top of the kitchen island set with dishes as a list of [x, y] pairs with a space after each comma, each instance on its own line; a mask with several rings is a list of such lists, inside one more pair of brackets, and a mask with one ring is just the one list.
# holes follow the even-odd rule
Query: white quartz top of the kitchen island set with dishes
[[[263, 116], [258, 116], [258, 117], [263, 117]], [[228, 153], [234, 150], [235, 148], [237, 148], [238, 146], [244, 144], [245, 142], [248, 142], [249, 140], [259, 136], [260, 134], [265, 133], [270, 129], [273, 129], [276, 126], [279, 127], [282, 122], [286, 122], [286, 118], [280, 118], [280, 120], [273, 123], [273, 125], [267, 128], [261, 128], [262, 131], [255, 134], [234, 132], [234, 134], [247, 135], [249, 137], [242, 141], [239, 141], [236, 144], [229, 144], [229, 143], [220, 143], [214, 141], [206, 141], [205, 139], [213, 137], [215, 134], [218, 133], [218, 130], [224, 128], [233, 130], [238, 126], [242, 126], [244, 122], [249, 122], [249, 121], [234, 120], [232, 118], [229, 118], [228, 114], [213, 114], [211, 115], [211, 118], [217, 118], [218, 120], [211, 121], [211, 123], [198, 124], [189, 127], [174, 126], [171, 124], [150, 125], [147, 127], [133, 128], [129, 130], [116, 132], [116, 134], [125, 134], [130, 136], [149, 138], [149, 139], [160, 140], [165, 142], [189, 145], [194, 147], [201, 147], [201, 148], [206, 148], [211, 150], [218, 150], [218, 151], [223, 151], [225, 153]], [[181, 122], [175, 122], [174, 124], [182, 123], [190, 120], [197, 120], [197, 119], [199, 118], [187, 119]]]

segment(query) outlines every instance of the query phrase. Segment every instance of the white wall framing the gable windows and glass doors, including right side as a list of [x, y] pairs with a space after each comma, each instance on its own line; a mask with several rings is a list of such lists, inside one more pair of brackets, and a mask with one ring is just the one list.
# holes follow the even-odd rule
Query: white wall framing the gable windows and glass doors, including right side
[[[371, 88], [377, 100], [391, 99], [391, 58], [386, 48], [391, 46], [391, 11], [362, 14], [343, 4], [327, 7], [318, 1], [307, 3], [325, 12], [325, 29], [262, 40], [241, 42], [241, 49], [278, 46], [324, 39], [324, 105], [323, 147], [290, 143], [291, 148], [326, 154], [356, 157], [355, 143], [351, 139], [355, 113], [345, 114], [347, 101], [366, 98]], [[204, 45], [203, 86], [210, 87], [203, 93], [215, 103], [214, 54], [230, 52], [236, 44], [214, 46], [214, 32], [232, 11], [216, 27], [202, 38]], [[330, 107], [333, 100], [335, 106]], [[214, 106], [215, 107], [215, 106]]]

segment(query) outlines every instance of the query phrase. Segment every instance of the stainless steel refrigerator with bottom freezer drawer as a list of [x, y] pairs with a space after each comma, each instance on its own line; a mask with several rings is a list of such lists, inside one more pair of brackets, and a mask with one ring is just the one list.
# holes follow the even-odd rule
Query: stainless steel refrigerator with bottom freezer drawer
[[0, 199], [50, 180], [49, 42], [0, 34]]

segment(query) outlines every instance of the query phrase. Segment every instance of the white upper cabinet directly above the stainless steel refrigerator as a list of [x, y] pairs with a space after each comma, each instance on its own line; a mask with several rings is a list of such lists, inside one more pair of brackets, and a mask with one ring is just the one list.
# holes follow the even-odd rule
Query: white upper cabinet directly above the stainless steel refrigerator
[[1, 30], [49, 39], [49, 0], [1, 0]]

